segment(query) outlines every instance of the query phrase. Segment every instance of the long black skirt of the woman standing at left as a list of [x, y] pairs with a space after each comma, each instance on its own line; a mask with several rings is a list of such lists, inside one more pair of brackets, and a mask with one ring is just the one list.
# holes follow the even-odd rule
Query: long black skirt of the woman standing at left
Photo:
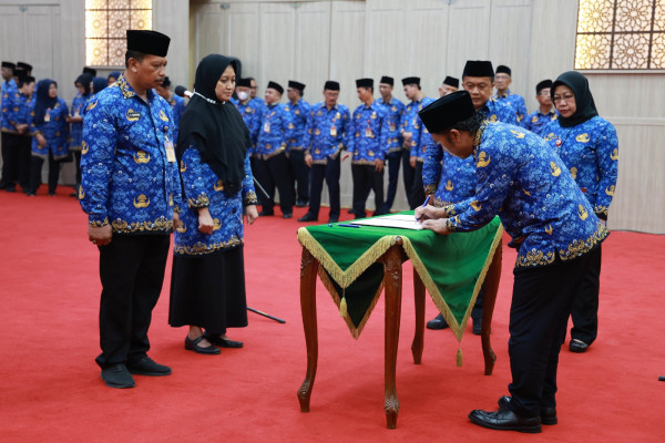
[[212, 333], [247, 326], [243, 246], [204, 257], [173, 256], [168, 324]]

